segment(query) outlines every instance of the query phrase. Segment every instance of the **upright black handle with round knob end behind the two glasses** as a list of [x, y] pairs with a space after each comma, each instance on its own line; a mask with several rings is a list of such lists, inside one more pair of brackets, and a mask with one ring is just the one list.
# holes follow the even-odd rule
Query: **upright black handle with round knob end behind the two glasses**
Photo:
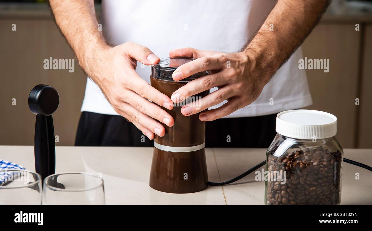
[[55, 142], [52, 113], [58, 108], [60, 97], [52, 86], [39, 84], [29, 95], [28, 104], [36, 114], [35, 170], [45, 177], [55, 173]]

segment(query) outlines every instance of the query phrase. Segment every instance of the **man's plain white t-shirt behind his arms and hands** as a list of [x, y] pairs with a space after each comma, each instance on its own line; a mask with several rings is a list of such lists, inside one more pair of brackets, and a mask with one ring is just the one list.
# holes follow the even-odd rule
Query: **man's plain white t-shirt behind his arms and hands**
[[[185, 47], [237, 52], [260, 28], [275, 4], [276, 0], [103, 0], [101, 23], [110, 43], [132, 41], [147, 46], [160, 58], [169, 57], [172, 49]], [[225, 118], [269, 115], [310, 106], [306, 73], [298, 68], [302, 58], [299, 48], [256, 101]], [[150, 66], [141, 63], [136, 69], [148, 82], [150, 70]], [[211, 91], [214, 90], [217, 88]], [[81, 111], [118, 115], [90, 78]]]

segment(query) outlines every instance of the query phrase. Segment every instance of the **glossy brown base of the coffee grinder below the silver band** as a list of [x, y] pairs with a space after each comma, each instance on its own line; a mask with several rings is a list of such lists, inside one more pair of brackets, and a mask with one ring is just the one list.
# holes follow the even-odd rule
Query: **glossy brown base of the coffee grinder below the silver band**
[[150, 187], [167, 193], [193, 193], [208, 187], [205, 148], [167, 152], [154, 147]]

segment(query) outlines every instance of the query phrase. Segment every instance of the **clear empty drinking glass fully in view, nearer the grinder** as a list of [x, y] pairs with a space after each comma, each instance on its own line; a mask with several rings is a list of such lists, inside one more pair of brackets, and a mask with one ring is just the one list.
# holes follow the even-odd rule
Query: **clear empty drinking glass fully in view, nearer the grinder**
[[44, 205], [105, 205], [103, 179], [90, 173], [52, 174], [44, 179]]

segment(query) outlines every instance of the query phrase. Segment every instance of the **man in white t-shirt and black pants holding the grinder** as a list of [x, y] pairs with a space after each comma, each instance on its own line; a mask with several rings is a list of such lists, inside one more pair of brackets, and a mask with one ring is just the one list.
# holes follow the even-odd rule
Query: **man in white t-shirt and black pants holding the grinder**
[[[180, 97], [211, 89], [201, 109], [207, 147], [268, 147], [276, 114], [311, 105], [298, 49], [327, 0], [50, 0], [55, 21], [88, 74], [76, 145], [151, 146], [174, 119]], [[189, 47], [189, 48], [182, 48]], [[150, 50], [150, 49], [151, 50]], [[150, 67], [164, 57], [197, 58], [177, 68], [178, 81], [199, 71], [171, 99], [151, 87]], [[155, 104], [151, 103], [155, 102]], [[124, 119], [124, 118], [125, 119]], [[148, 139], [141, 140], [144, 134]]]

